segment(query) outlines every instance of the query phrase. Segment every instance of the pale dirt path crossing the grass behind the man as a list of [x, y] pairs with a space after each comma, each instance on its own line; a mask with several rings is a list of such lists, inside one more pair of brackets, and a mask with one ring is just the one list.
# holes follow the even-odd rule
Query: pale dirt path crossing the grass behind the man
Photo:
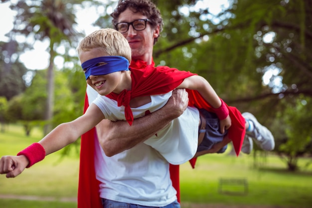
[[[20, 196], [20, 195], [0, 195], [0, 199], [15, 199], [27, 201], [45, 201], [45, 202], [74, 202], [77, 203], [76, 197], [39, 197], [39, 196]], [[203, 205], [194, 203], [181, 203], [181, 208], [283, 208], [279, 206], [250, 206], [250, 205]]]

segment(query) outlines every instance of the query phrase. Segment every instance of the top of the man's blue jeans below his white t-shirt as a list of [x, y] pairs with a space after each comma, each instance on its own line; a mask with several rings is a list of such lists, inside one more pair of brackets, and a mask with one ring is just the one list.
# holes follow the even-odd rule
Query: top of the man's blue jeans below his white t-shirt
[[102, 205], [103, 205], [103, 208], [181, 208], [180, 204], [177, 201], [169, 205], [166, 205], [164, 207], [148, 207], [148, 206], [134, 205], [134, 204], [115, 202], [112, 200], [102, 199]]

